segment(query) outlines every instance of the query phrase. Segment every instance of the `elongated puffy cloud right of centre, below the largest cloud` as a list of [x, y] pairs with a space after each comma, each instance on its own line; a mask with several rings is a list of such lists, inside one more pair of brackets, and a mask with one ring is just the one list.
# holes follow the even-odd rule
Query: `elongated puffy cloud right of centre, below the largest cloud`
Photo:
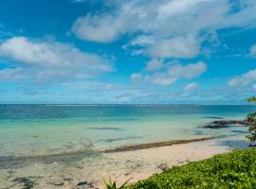
[[[154, 61], [153, 61], [154, 62]], [[135, 73], [131, 78], [135, 81], [142, 80], [159, 85], [170, 85], [178, 79], [188, 79], [201, 76], [206, 70], [207, 65], [203, 61], [182, 65], [180, 63], [163, 63], [157, 69], [148, 69], [150, 61], [146, 65], [146, 69], [142, 73]]]

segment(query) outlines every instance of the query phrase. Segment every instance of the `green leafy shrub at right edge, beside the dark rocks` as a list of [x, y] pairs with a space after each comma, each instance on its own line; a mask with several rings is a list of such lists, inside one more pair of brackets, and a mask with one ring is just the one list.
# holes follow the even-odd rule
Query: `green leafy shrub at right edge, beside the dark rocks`
[[[248, 102], [256, 102], [256, 97], [247, 98]], [[247, 115], [247, 121], [251, 122], [251, 126], [249, 127], [249, 135], [247, 135], [247, 139], [250, 141], [250, 145], [253, 146], [253, 143], [256, 142], [256, 112], [249, 113]]]

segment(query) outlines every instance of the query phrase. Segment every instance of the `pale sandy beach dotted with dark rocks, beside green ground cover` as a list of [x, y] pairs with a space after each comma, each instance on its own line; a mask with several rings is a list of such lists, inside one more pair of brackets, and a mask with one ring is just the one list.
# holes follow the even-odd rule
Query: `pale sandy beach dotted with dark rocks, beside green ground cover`
[[15, 178], [27, 178], [33, 182], [33, 188], [102, 188], [102, 179], [108, 180], [109, 177], [118, 183], [132, 178], [132, 183], [174, 165], [228, 152], [232, 147], [223, 145], [226, 141], [231, 144], [232, 141], [243, 143], [244, 140], [245, 137], [239, 135], [136, 151], [101, 153], [97, 157], [69, 163], [30, 163], [1, 171], [0, 180], [4, 181], [1, 188], [21, 188], [23, 183], [13, 181]]

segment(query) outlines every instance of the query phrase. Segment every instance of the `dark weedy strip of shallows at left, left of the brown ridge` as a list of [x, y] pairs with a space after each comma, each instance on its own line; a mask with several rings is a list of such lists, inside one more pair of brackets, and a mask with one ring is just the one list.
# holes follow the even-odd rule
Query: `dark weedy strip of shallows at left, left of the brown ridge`
[[0, 156], [0, 169], [24, 167], [31, 163], [75, 163], [84, 158], [100, 156], [100, 151], [91, 149], [38, 156]]

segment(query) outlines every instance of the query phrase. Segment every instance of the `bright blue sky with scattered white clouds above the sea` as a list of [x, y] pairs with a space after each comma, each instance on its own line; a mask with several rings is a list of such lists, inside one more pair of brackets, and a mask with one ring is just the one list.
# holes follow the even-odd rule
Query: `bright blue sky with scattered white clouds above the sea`
[[255, 0], [1, 0], [2, 104], [243, 104]]

